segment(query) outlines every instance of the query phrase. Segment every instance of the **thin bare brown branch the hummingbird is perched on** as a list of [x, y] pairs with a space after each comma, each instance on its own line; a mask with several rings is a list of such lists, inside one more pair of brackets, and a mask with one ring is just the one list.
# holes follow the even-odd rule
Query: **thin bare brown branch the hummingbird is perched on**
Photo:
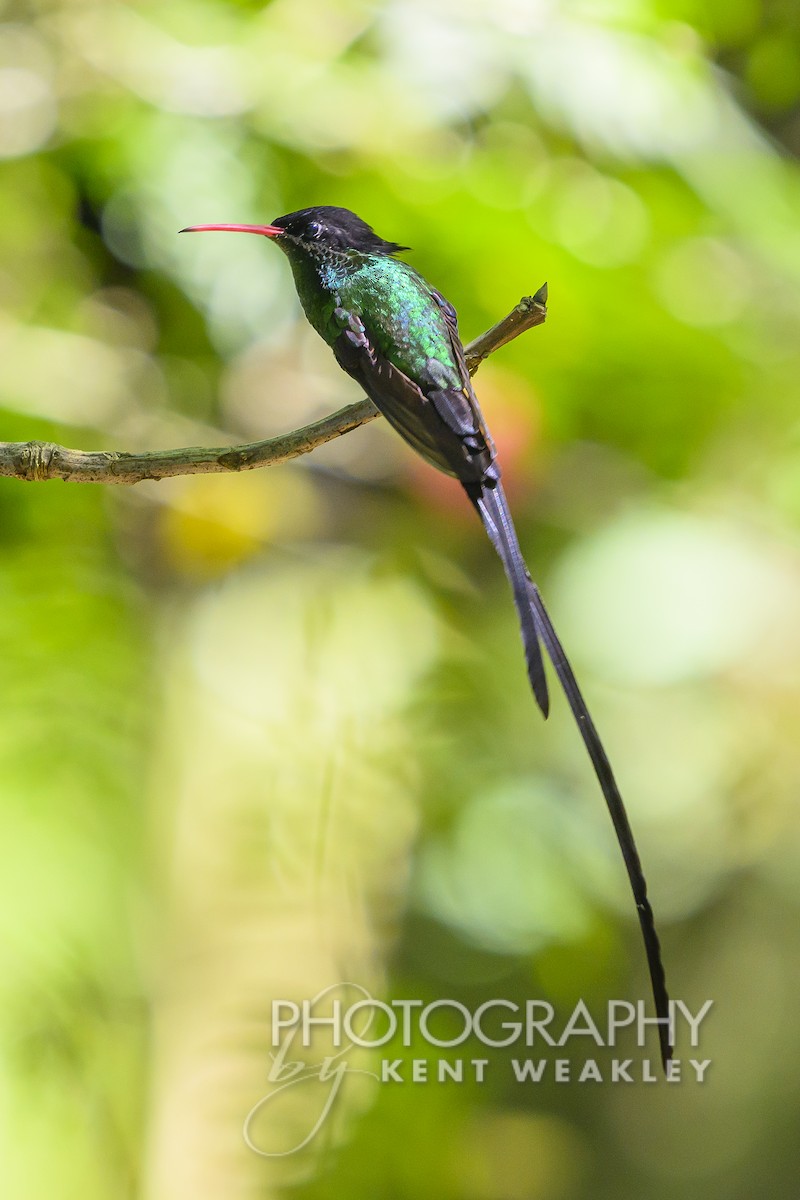
[[[481, 362], [494, 350], [525, 330], [541, 325], [546, 316], [545, 283], [535, 295], [523, 296], [507, 317], [464, 347], [469, 373], [475, 374]], [[77, 484], [138, 484], [143, 479], [166, 479], [168, 475], [252, 470], [297, 458], [379, 415], [372, 401], [365, 398], [277, 438], [249, 442], [241, 446], [182, 446], [179, 450], [154, 450], [146, 454], [70, 450], [53, 442], [0, 442], [0, 475], [26, 481], [68, 479]]]

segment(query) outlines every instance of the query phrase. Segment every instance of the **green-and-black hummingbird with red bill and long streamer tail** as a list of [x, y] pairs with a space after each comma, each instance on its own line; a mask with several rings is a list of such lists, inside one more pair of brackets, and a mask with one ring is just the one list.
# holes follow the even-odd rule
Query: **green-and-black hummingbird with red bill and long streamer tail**
[[181, 233], [213, 230], [275, 241], [289, 259], [308, 322], [342, 370], [426, 462], [458, 480], [477, 510], [511, 584], [536, 703], [547, 718], [545, 650], [608, 805], [644, 940], [666, 1069], [672, 1057], [669, 997], [636, 841], [608, 756], [525, 565], [494, 443], [467, 370], [456, 310], [396, 257], [408, 246], [380, 238], [349, 209], [319, 205], [288, 212], [271, 224], [200, 224]]

